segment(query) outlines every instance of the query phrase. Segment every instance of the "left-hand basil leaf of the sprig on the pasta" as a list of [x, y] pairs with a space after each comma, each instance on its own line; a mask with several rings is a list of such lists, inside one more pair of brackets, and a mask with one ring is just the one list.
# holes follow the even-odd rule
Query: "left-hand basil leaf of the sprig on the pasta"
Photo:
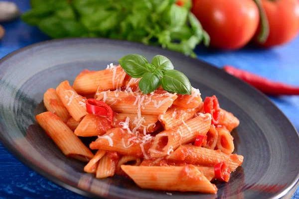
[[141, 78], [149, 72], [145, 66], [149, 61], [142, 55], [125, 55], [119, 62], [124, 71], [133, 78]]

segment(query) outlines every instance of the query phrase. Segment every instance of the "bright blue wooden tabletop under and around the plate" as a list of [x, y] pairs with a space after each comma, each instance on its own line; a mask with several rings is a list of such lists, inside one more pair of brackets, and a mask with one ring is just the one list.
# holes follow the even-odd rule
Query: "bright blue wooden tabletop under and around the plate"
[[[22, 12], [29, 9], [28, 0], [12, 0]], [[37, 28], [15, 20], [1, 24], [6, 34], [0, 40], [0, 58], [32, 43], [50, 39]], [[221, 67], [230, 64], [256, 74], [299, 86], [299, 37], [287, 46], [260, 50], [248, 46], [236, 52], [218, 52], [198, 47], [198, 58]], [[271, 98], [299, 130], [299, 97]], [[284, 132], [282, 132], [284, 133]], [[83, 199], [29, 169], [12, 156], [0, 143], [0, 199]], [[297, 189], [293, 199], [299, 199]]]

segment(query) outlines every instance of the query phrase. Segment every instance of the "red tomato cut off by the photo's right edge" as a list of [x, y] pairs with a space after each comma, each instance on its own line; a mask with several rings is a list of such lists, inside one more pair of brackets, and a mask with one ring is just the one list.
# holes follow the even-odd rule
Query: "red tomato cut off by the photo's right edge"
[[291, 41], [299, 32], [298, 0], [262, 0], [270, 33], [261, 46], [271, 47]]

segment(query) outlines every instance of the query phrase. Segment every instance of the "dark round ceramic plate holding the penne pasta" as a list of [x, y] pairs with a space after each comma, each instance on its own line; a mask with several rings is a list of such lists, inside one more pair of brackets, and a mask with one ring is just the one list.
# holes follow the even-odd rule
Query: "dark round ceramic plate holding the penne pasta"
[[[36, 125], [43, 93], [84, 69], [102, 70], [130, 53], [168, 57], [202, 96], [216, 95], [222, 108], [240, 119], [232, 132], [242, 167], [217, 195], [143, 190], [114, 177], [97, 180], [84, 164], [66, 158]], [[65, 39], [37, 43], [0, 60], [0, 141], [25, 164], [55, 183], [84, 196], [122, 199], [281, 198], [299, 179], [299, 137], [288, 118], [263, 94], [202, 61], [138, 43], [107, 39]], [[88, 140], [86, 140], [88, 141]]]

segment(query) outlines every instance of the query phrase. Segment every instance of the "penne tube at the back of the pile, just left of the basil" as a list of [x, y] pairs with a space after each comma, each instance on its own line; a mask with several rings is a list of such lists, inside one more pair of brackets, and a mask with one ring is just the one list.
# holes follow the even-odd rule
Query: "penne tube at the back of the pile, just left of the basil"
[[96, 93], [99, 90], [116, 90], [121, 88], [126, 77], [121, 66], [110, 69], [80, 74], [76, 77], [73, 87], [79, 94]]

